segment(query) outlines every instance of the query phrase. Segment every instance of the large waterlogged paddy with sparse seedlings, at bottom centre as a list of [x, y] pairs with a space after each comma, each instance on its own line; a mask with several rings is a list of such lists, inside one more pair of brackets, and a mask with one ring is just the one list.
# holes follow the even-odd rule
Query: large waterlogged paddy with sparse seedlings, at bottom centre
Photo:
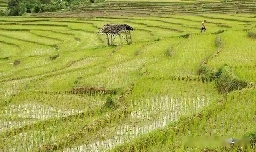
[[[169, 96], [154, 97], [151, 99], [138, 99], [131, 103], [131, 120], [141, 119], [138, 122], [129, 122], [115, 127], [114, 136], [106, 140], [95, 141], [84, 145], [75, 145], [66, 148], [64, 152], [102, 152], [118, 144], [148, 133], [154, 129], [161, 129], [168, 123], [176, 121], [182, 115], [191, 115], [209, 104], [210, 99], [197, 98], [172, 98]], [[157, 115], [157, 116], [156, 116]], [[156, 116], [156, 117], [154, 117]], [[102, 133], [103, 134], [103, 133]]]

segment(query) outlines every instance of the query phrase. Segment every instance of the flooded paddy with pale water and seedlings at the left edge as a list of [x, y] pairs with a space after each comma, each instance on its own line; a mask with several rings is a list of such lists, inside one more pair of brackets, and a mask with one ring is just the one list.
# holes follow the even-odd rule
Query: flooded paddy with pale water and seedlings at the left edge
[[[9, 105], [1, 111], [1, 115], [10, 120], [0, 120], [0, 131], [10, 129], [12, 127], [21, 127], [35, 121], [43, 121], [56, 117], [66, 117], [81, 110], [76, 109], [58, 109], [56, 107], [44, 106], [41, 104], [19, 104]], [[12, 118], [14, 118], [12, 120]], [[21, 119], [22, 121], [17, 121]]]

